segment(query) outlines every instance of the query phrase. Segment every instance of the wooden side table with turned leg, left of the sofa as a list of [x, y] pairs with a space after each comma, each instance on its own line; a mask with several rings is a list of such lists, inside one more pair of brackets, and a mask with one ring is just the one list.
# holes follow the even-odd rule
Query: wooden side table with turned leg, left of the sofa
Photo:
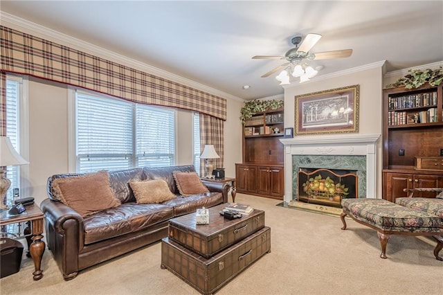
[[42, 241], [43, 238], [43, 221], [44, 214], [36, 204], [26, 206], [26, 211], [19, 215], [9, 215], [8, 211], [1, 211], [0, 226], [14, 224], [18, 222], [31, 222], [31, 234], [33, 237], [32, 243], [29, 245], [30, 256], [33, 258], [35, 271], [33, 272], [34, 280], [39, 280], [43, 277], [41, 269], [42, 257], [46, 244]]

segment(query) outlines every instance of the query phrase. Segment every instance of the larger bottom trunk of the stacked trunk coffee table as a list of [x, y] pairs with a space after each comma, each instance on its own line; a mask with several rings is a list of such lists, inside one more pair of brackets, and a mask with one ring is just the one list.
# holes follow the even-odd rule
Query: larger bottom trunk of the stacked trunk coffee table
[[213, 294], [270, 251], [271, 229], [267, 226], [209, 259], [163, 238], [161, 268], [169, 269], [202, 294]]

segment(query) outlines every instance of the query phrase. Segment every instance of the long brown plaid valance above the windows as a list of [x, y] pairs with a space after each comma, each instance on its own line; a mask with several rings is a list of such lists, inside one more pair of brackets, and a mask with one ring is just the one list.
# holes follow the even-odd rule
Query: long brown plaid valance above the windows
[[226, 99], [82, 51], [1, 29], [1, 71], [33, 75], [148, 105], [190, 109], [226, 120]]

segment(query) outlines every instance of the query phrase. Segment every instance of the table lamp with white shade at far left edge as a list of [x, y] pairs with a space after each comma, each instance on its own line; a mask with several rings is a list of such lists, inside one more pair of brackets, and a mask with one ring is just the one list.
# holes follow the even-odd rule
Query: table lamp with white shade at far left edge
[[[29, 162], [23, 159], [15, 148], [9, 137], [0, 136], [0, 167], [24, 165]], [[0, 210], [8, 210], [9, 207], [5, 205], [6, 192], [11, 186], [11, 181], [6, 178], [6, 170], [0, 169]]]

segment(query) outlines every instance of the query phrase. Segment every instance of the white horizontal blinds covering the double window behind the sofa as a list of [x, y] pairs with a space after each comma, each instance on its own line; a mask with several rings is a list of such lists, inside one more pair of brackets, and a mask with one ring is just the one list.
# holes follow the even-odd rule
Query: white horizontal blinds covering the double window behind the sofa
[[76, 93], [78, 172], [173, 166], [175, 111]]

